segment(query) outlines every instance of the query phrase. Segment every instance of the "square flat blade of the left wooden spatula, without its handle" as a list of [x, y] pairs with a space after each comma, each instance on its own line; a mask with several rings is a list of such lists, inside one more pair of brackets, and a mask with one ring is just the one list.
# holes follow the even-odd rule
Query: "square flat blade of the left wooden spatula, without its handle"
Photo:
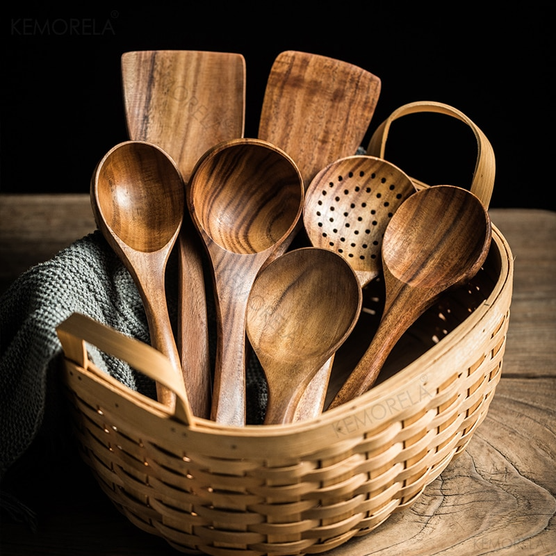
[[186, 182], [207, 149], [243, 136], [245, 59], [240, 54], [125, 52], [122, 87], [129, 138], [164, 149]]

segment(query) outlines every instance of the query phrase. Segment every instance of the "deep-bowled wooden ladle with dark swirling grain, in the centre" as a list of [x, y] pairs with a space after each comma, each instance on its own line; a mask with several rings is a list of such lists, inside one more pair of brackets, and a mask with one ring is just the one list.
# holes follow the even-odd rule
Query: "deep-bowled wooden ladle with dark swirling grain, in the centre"
[[286, 242], [304, 200], [301, 174], [275, 145], [224, 141], [191, 174], [188, 204], [213, 268], [218, 345], [211, 418], [245, 425], [245, 313], [263, 263]]

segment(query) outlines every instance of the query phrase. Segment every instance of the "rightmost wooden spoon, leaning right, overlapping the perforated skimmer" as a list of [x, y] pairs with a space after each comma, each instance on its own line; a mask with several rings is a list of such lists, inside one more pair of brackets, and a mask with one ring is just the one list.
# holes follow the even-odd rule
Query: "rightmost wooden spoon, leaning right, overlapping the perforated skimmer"
[[379, 327], [330, 408], [373, 386], [405, 330], [448, 288], [480, 270], [491, 243], [491, 221], [473, 193], [434, 186], [411, 195], [393, 215], [382, 242], [386, 301]]

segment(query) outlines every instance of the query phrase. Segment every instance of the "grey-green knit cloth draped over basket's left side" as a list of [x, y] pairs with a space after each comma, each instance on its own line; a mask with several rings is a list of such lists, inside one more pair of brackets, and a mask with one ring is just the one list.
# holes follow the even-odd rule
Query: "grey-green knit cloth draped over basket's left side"
[[[206, 263], [206, 259], [205, 259]], [[207, 266], [206, 269], [207, 270]], [[208, 275], [208, 271], [205, 275]], [[175, 325], [177, 261], [167, 265], [167, 297]], [[214, 304], [206, 280], [211, 360], [214, 361]], [[62, 348], [56, 327], [74, 312], [149, 343], [145, 311], [131, 275], [97, 230], [53, 259], [30, 268], [0, 297], [0, 478], [31, 445], [46, 419], [49, 389], [57, 389]], [[91, 348], [90, 359], [131, 389], [156, 398], [154, 382], [127, 363]], [[261, 423], [266, 385], [256, 358], [247, 366], [247, 423]], [[54, 434], [55, 432], [52, 431]]]

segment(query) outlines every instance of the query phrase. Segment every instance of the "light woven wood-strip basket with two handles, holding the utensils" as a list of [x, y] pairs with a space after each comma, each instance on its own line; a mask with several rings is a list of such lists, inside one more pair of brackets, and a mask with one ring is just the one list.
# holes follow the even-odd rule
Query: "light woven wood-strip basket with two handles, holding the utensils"
[[[415, 111], [446, 113], [475, 131], [472, 188], [488, 205], [491, 146], [454, 108], [402, 107], [377, 129], [370, 154], [381, 154], [395, 117]], [[184, 424], [183, 383], [168, 361], [74, 313], [58, 336], [83, 459], [131, 522], [177, 550], [218, 556], [325, 552], [411, 505], [466, 448], [500, 379], [512, 276], [509, 245], [493, 227], [489, 256], [473, 283], [444, 295], [404, 334], [382, 382], [349, 404], [291, 425], [230, 427], [199, 418]], [[358, 325], [367, 343], [381, 295], [380, 281], [368, 286], [368, 321]], [[352, 346], [359, 341], [353, 337]], [[174, 414], [95, 368], [86, 343], [172, 389]], [[336, 359], [347, 361], [347, 348], [343, 353]], [[348, 367], [335, 368], [336, 379]]]

